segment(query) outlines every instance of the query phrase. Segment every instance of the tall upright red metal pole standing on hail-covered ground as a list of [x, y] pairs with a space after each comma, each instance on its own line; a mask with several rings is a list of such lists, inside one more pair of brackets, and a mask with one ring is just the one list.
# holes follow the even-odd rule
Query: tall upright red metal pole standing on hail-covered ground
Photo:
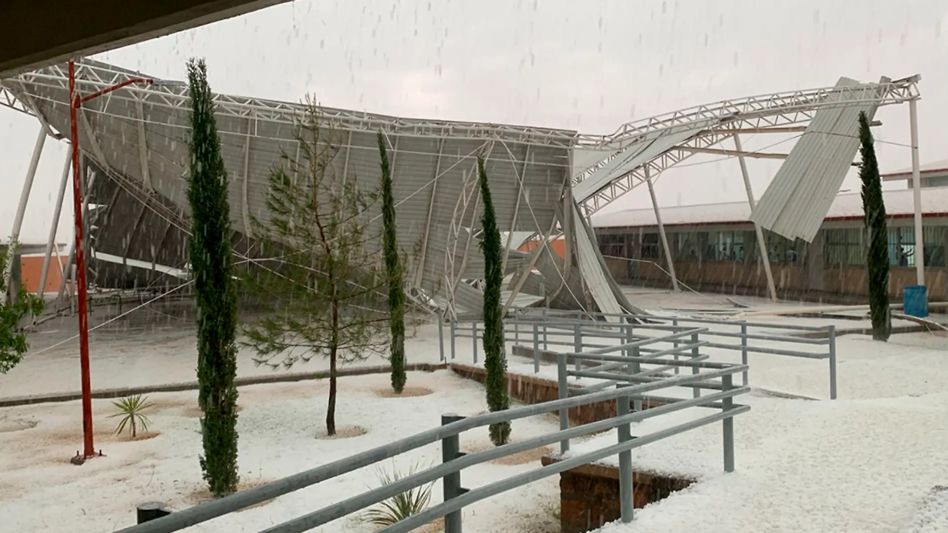
[[72, 138], [72, 199], [76, 221], [76, 293], [79, 299], [79, 363], [82, 367], [82, 454], [96, 454], [92, 441], [92, 380], [89, 377], [89, 315], [85, 306], [85, 240], [82, 237], [82, 184], [79, 169], [79, 95], [76, 94], [76, 63], [69, 62], [69, 130]]

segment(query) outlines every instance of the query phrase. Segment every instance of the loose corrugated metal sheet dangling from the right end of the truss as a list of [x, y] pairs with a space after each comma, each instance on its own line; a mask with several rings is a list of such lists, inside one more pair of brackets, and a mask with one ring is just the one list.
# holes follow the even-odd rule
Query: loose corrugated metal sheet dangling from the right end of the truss
[[[856, 80], [841, 78], [836, 86], [856, 84]], [[878, 108], [875, 100], [880, 90], [867, 86], [862, 91], [866, 104], [816, 112], [760, 196], [751, 214], [753, 222], [787, 239], [813, 240], [859, 149], [858, 116], [866, 112], [871, 120]]]

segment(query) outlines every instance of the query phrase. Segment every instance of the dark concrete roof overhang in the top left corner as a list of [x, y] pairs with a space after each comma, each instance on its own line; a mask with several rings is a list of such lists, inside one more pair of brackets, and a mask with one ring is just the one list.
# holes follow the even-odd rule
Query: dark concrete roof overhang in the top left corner
[[4, 0], [0, 2], [0, 78], [286, 1]]

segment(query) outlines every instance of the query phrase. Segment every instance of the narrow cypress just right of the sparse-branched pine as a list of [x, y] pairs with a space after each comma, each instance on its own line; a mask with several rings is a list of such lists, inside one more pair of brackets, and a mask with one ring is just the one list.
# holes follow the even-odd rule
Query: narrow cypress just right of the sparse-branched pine
[[392, 195], [392, 169], [385, 149], [385, 136], [378, 133], [378, 152], [382, 167], [382, 224], [385, 238], [385, 270], [389, 278], [389, 323], [392, 329], [392, 390], [401, 394], [405, 389], [405, 288], [398, 260], [398, 241], [395, 235], [395, 199]]

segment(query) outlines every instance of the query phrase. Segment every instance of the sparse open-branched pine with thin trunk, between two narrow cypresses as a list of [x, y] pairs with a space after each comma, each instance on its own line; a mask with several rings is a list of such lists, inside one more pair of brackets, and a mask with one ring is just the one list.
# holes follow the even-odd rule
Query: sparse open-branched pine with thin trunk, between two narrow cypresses
[[[268, 221], [254, 221], [265, 258], [246, 278], [263, 313], [246, 325], [256, 364], [289, 368], [315, 356], [329, 360], [326, 433], [336, 435], [340, 364], [385, 353], [388, 276], [367, 228], [377, 194], [355, 179], [337, 179], [336, 132], [310, 105], [296, 133], [299, 159], [287, 153], [268, 176]], [[292, 177], [291, 177], [292, 176]]]

